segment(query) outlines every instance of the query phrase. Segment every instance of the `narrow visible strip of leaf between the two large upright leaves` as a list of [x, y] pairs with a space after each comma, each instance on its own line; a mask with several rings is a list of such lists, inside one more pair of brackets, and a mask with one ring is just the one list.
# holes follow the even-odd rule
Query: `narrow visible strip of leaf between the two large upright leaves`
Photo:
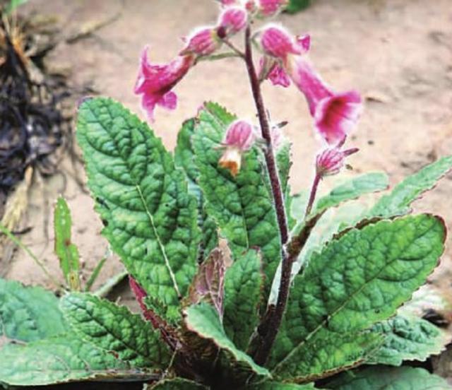
[[191, 146], [191, 136], [194, 134], [195, 119], [189, 119], [182, 124], [182, 129], [177, 136], [177, 146], [174, 150], [174, 163], [182, 168], [189, 182], [189, 193], [198, 200], [198, 226], [203, 232], [201, 239], [200, 260], [210, 254], [218, 245], [217, 224], [204, 210], [203, 192], [198, 186], [199, 170], [195, 163], [195, 154]]

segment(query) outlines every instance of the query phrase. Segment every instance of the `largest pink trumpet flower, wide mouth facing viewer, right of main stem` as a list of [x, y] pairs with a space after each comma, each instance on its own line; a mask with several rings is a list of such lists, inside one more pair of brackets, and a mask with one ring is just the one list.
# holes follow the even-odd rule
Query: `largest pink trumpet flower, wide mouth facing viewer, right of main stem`
[[310, 47], [309, 35], [295, 39], [282, 28], [271, 26], [263, 31], [261, 45], [266, 54], [283, 64], [284, 71], [304, 93], [322, 138], [330, 145], [343, 141], [361, 114], [359, 93], [335, 93], [323, 82], [303, 55]]

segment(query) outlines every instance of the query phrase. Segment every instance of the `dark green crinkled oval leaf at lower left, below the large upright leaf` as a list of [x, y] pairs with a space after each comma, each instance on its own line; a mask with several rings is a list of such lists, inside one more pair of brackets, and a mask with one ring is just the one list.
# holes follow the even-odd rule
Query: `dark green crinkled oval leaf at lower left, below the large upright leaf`
[[61, 299], [61, 309], [81, 338], [114, 353], [132, 367], [167, 366], [169, 350], [160, 341], [158, 331], [127, 307], [94, 295], [72, 293]]

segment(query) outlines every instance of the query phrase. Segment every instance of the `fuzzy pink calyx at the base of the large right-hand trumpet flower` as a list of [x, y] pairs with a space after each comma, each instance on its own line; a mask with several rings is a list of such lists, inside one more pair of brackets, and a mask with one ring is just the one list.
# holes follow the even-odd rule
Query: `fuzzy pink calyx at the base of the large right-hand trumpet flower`
[[263, 51], [269, 56], [286, 59], [289, 54], [303, 54], [304, 47], [289, 32], [278, 26], [270, 26], [261, 35]]

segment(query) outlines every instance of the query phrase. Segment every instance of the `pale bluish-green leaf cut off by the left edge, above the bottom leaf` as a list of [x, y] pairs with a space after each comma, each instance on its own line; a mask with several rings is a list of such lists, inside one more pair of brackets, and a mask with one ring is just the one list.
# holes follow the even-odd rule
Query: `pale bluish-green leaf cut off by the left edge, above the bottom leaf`
[[0, 278], [0, 336], [28, 342], [64, 331], [66, 323], [53, 293]]

